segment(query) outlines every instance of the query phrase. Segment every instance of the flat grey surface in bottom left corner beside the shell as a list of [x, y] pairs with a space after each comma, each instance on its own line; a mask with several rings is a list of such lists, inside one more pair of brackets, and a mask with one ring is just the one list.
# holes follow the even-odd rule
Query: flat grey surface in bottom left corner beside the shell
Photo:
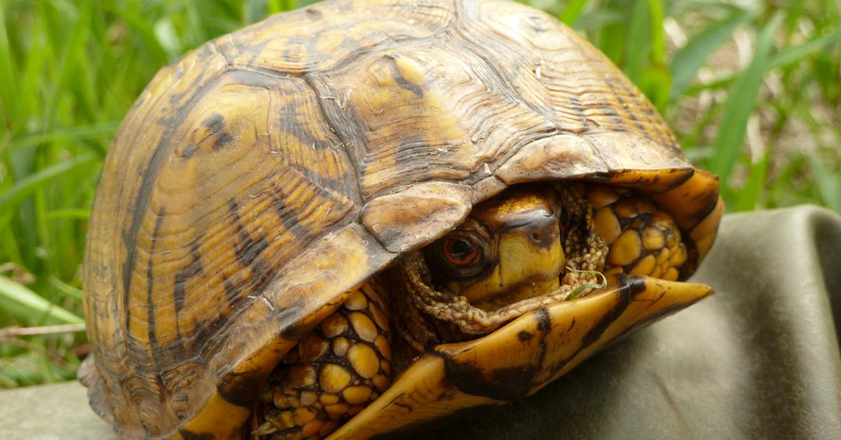
[[0, 439], [117, 438], [87, 405], [87, 391], [76, 381], [0, 392]]

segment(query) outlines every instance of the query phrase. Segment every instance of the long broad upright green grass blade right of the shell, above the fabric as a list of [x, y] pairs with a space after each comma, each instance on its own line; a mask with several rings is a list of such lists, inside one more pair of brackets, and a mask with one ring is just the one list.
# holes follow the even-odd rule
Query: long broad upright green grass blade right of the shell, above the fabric
[[748, 117], [756, 107], [768, 54], [774, 45], [774, 32], [783, 17], [781, 12], [775, 13], [762, 29], [750, 65], [739, 74], [724, 104], [722, 125], [718, 128], [716, 140], [713, 142], [713, 155], [710, 161], [710, 171], [721, 178], [722, 188], [727, 187], [730, 173], [733, 172], [733, 166], [742, 152]]

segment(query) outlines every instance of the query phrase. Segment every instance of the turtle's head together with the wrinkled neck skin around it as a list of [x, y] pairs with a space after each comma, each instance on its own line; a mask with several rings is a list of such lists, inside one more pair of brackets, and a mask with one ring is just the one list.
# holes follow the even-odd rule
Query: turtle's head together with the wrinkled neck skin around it
[[594, 271], [604, 268], [607, 247], [580, 189], [546, 182], [507, 188], [407, 256], [393, 278], [403, 290], [398, 301], [407, 301], [397, 307], [413, 315], [407, 322], [429, 324], [406, 331], [410, 344], [487, 334], [599, 286]]

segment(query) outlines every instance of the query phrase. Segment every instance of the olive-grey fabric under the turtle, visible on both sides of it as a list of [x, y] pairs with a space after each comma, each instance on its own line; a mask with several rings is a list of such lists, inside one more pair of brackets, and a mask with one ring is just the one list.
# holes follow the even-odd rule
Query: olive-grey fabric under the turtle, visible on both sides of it
[[[727, 215], [693, 280], [717, 293], [537, 395], [413, 437], [841, 438], [841, 218]], [[71, 383], [0, 392], [0, 438], [114, 435]]]

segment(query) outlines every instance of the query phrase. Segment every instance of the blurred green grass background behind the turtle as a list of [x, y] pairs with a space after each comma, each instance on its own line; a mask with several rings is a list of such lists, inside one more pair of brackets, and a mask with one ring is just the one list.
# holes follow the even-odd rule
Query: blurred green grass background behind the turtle
[[[88, 211], [145, 84], [204, 41], [307, 3], [0, 0], [0, 387], [71, 379], [87, 353]], [[621, 66], [690, 160], [721, 176], [728, 211], [841, 212], [841, 0], [527, 3]]]

